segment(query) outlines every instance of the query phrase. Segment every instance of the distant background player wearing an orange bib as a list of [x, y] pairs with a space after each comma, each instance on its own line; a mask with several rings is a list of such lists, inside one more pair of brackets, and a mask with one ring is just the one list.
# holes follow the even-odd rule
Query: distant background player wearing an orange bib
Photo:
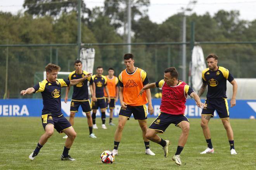
[[[114, 76], [114, 68], [109, 68], [108, 75], [106, 75], [107, 78], [107, 89], [109, 90], [109, 96], [110, 96], [110, 102], [106, 102], [106, 109], [109, 105], [109, 125], [115, 126], [115, 124], [112, 123], [113, 118], [113, 110], [115, 108], [116, 102], [118, 101], [118, 78]], [[105, 97], [107, 97], [107, 93], [104, 90]]]

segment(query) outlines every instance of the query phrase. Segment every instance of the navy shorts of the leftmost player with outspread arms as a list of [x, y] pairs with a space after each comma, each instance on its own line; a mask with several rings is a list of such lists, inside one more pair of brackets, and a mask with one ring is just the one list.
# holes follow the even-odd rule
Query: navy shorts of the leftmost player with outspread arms
[[59, 133], [62, 133], [65, 129], [72, 127], [72, 125], [63, 116], [63, 114], [61, 116], [54, 116], [53, 114], [44, 114], [42, 115], [42, 124], [43, 129], [45, 129], [45, 126], [47, 126], [48, 124], [52, 124]]

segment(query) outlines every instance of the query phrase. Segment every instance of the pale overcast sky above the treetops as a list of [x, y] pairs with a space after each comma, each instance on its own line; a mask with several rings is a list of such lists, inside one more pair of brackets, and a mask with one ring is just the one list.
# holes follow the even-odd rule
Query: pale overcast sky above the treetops
[[[22, 10], [24, 0], [0, 0], [0, 11], [9, 11], [17, 14]], [[104, 0], [84, 0], [88, 8], [103, 6]], [[153, 22], [162, 23], [168, 17], [178, 12], [181, 8], [186, 8], [190, 0], [150, 0], [149, 17]], [[252, 21], [256, 19], [256, 0], [197, 0], [192, 5], [193, 11], [198, 15], [209, 12], [214, 15], [218, 10], [239, 10], [240, 19]], [[189, 15], [189, 13], [188, 13]]]

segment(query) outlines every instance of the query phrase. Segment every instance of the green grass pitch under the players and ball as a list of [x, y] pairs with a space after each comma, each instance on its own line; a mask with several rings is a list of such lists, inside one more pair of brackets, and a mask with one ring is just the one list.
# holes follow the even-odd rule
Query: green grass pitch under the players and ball
[[[148, 120], [148, 125], [154, 119]], [[108, 122], [108, 118], [106, 120]], [[69, 154], [76, 159], [74, 162], [61, 161], [65, 139], [64, 134], [57, 131], [48, 139], [35, 160], [28, 159], [35, 149], [43, 127], [40, 117], [0, 117], [0, 169], [1, 170], [164, 170], [164, 169], [256, 169], [256, 122], [255, 120], [231, 119], [234, 130], [235, 149], [237, 155], [230, 155], [226, 131], [220, 119], [211, 119], [211, 129], [214, 154], [200, 155], [206, 148], [206, 141], [200, 127], [200, 119], [190, 119], [190, 134], [182, 153], [182, 165], [176, 165], [172, 160], [180, 136], [180, 128], [171, 124], [161, 138], [169, 139], [169, 157], [164, 158], [162, 147], [150, 142], [151, 150], [156, 156], [145, 155], [145, 146], [138, 122], [133, 118], [126, 122], [123, 138], [119, 144], [118, 156], [113, 164], [103, 164], [100, 154], [112, 150], [116, 127], [107, 126], [101, 129], [100, 118], [96, 120], [99, 129], [93, 129], [97, 139], [88, 137], [86, 118], [75, 117], [74, 129], [77, 133]], [[118, 119], [114, 118], [117, 124]]]

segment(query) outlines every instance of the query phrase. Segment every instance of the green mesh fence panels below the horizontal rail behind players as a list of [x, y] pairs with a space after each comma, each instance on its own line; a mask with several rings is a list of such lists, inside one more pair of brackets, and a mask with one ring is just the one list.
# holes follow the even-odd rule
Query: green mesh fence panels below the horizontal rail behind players
[[[218, 65], [228, 68], [235, 78], [255, 78], [256, 72], [256, 44], [202, 44], [204, 56], [215, 53], [219, 56]], [[95, 48], [94, 68], [102, 66], [104, 75], [109, 67], [115, 69], [115, 75], [125, 69], [123, 55], [126, 53], [124, 45], [85, 46]], [[156, 82], [163, 78], [165, 68], [175, 66], [182, 79], [182, 45], [132, 45], [131, 51], [135, 57], [135, 66], [147, 72], [149, 82]], [[187, 78], [191, 61], [190, 46], [187, 45]], [[6, 69], [7, 47], [0, 47], [0, 98], [5, 93], [5, 73], [7, 70], [7, 98], [20, 98], [22, 89], [33, 87], [43, 80], [45, 66], [52, 62], [61, 66], [61, 71], [73, 71], [77, 58], [77, 48], [74, 46], [58, 47], [9, 47], [8, 70]], [[95, 73], [95, 71], [93, 72]], [[61, 77], [59, 77], [61, 78]], [[63, 78], [67, 78], [64, 76]], [[189, 82], [188, 82], [189, 83]], [[157, 92], [157, 88], [152, 93]], [[72, 93], [70, 92], [69, 95]], [[40, 94], [25, 97], [40, 98]], [[64, 89], [62, 91], [64, 97]], [[22, 97], [24, 98], [24, 97]]]

